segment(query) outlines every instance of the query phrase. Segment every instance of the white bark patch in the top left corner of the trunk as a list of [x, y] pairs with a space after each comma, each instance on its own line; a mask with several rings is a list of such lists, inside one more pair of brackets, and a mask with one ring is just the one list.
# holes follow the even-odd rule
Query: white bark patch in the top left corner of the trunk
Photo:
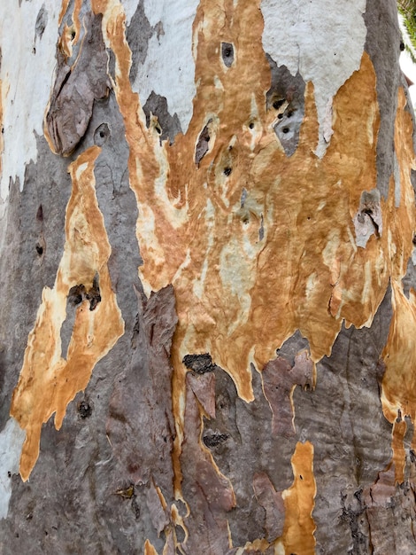
[[19, 177], [20, 190], [23, 188], [25, 167], [37, 157], [35, 133], [43, 135], [56, 65], [59, 10], [56, 0], [32, 0], [20, 7], [18, 0], [0, 2], [4, 112], [0, 199], [8, 197], [11, 177]]

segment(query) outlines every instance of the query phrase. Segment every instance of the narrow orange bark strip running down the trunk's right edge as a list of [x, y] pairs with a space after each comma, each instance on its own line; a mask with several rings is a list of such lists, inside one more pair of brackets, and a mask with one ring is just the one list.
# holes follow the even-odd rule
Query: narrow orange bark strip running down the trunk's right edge
[[[414, 192], [411, 183], [411, 169], [415, 168], [412, 145], [412, 116], [404, 110], [406, 98], [404, 90], [398, 94], [395, 126], [395, 149], [400, 163], [400, 205], [394, 208], [394, 187], [390, 186], [389, 213], [396, 213], [389, 227], [389, 273], [391, 275], [391, 297], [393, 317], [389, 337], [382, 352], [386, 371], [382, 380], [381, 403], [384, 416], [395, 423], [397, 416], [416, 418], [416, 292], [411, 288], [404, 294], [402, 278], [412, 255], [412, 238], [416, 231]], [[393, 429], [393, 461], [396, 480], [404, 480], [405, 423]], [[416, 445], [415, 438], [412, 441]]]

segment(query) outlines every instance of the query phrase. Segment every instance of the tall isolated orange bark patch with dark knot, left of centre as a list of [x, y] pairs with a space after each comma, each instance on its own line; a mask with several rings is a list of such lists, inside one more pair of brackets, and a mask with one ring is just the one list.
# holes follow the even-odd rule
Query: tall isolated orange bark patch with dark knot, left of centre
[[[20, 459], [24, 481], [39, 456], [42, 424], [56, 412], [62, 426], [65, 410], [89, 383], [96, 363], [124, 332], [107, 267], [111, 246], [95, 191], [94, 164], [101, 149], [83, 152], [69, 167], [73, 191], [66, 207], [65, 249], [53, 289], [45, 287], [35, 327], [30, 332], [19, 383], [13, 392], [11, 415], [26, 431]], [[99, 277], [101, 301], [91, 310], [84, 300], [76, 309], [66, 359], [60, 331], [66, 317], [66, 298], [74, 285], [89, 290]]]

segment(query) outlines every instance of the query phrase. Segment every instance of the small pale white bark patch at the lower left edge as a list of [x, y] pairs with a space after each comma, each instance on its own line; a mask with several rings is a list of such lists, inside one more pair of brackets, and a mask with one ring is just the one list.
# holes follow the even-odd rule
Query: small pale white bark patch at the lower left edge
[[9, 418], [0, 433], [0, 519], [7, 517], [12, 496], [12, 474], [19, 473], [19, 460], [25, 432]]

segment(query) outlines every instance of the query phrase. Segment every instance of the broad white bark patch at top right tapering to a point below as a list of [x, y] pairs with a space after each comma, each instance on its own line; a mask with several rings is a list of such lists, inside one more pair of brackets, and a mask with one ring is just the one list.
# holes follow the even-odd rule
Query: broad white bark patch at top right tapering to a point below
[[[366, 42], [366, 0], [262, 0], [263, 48], [278, 66], [312, 81], [320, 140], [316, 153], [327, 149], [328, 106], [336, 91], [356, 71]], [[324, 136], [325, 135], [325, 136]]]

